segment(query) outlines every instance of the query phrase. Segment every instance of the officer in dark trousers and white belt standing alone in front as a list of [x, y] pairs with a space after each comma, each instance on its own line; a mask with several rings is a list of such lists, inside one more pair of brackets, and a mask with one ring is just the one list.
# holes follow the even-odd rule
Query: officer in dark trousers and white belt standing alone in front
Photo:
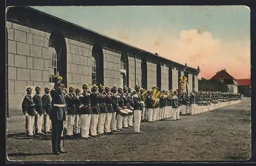
[[63, 88], [60, 86], [61, 80], [62, 77], [58, 75], [53, 78], [54, 88], [50, 92], [52, 97], [52, 110], [50, 112], [50, 119], [52, 121], [52, 151], [54, 155], [67, 153], [60, 146], [60, 135], [63, 130], [63, 121], [66, 118], [65, 112], [67, 111]]

